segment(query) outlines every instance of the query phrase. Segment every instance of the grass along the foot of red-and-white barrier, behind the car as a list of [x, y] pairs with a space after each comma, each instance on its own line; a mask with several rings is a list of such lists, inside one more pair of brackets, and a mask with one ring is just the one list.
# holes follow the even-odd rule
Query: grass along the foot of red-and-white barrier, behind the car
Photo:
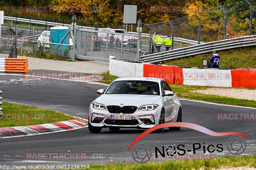
[[[109, 72], [102, 74], [103, 78], [101, 83], [110, 84], [113, 80], [115, 80], [116, 76], [112, 76]], [[248, 107], [256, 107], [256, 101], [254, 100], [245, 100], [245, 99], [236, 99], [230, 98], [225, 96], [213, 95], [213, 94], [203, 94], [199, 92], [191, 92], [198, 89], [208, 89], [208, 88], [216, 88], [212, 86], [199, 86], [199, 85], [176, 85], [176, 84], [169, 84], [172, 88], [172, 91], [177, 94], [178, 97], [194, 99], [194, 100], [203, 100], [203, 101], [210, 101], [215, 103], [224, 103], [230, 105], [239, 105], [239, 106], [248, 106]], [[234, 87], [220, 87], [223, 89], [234, 88]], [[240, 88], [240, 87], [237, 87]], [[241, 89], [248, 89], [248, 88], [241, 88]]]

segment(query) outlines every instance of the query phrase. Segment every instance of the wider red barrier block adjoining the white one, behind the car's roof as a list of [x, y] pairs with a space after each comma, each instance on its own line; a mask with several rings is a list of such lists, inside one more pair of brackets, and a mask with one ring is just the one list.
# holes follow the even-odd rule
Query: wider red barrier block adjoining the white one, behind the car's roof
[[163, 78], [173, 84], [174, 67], [155, 64], [143, 64], [143, 77]]

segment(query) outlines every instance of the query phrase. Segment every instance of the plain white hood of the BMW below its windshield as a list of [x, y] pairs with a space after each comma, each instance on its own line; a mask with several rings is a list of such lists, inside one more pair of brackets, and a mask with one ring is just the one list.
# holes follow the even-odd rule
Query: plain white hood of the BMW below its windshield
[[152, 104], [155, 100], [160, 99], [159, 95], [140, 95], [140, 94], [102, 94], [95, 102], [120, 106], [137, 106]]

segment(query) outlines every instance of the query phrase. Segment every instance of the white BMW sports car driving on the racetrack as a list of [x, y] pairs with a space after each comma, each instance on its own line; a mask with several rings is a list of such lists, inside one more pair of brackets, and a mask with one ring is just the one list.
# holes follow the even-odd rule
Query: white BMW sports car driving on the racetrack
[[[101, 96], [89, 107], [88, 126], [92, 133], [100, 133], [102, 128], [148, 129], [165, 122], [182, 121], [180, 100], [161, 78], [117, 78], [97, 93]], [[164, 128], [158, 131], [163, 132]]]

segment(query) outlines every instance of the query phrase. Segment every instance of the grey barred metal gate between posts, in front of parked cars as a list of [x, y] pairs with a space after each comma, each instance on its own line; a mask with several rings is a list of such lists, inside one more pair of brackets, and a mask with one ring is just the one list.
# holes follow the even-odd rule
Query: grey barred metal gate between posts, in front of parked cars
[[77, 30], [76, 58], [109, 61], [109, 55], [136, 61], [138, 35]]

